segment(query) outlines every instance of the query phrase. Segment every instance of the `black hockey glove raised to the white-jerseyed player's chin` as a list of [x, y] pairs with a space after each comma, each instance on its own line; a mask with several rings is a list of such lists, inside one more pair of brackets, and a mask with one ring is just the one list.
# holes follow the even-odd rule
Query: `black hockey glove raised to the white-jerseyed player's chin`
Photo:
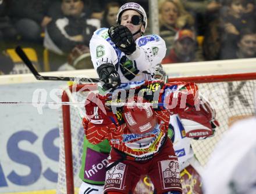
[[133, 34], [125, 25], [118, 25], [108, 29], [108, 35], [111, 41], [125, 54], [131, 54], [136, 50], [136, 43], [133, 40]]

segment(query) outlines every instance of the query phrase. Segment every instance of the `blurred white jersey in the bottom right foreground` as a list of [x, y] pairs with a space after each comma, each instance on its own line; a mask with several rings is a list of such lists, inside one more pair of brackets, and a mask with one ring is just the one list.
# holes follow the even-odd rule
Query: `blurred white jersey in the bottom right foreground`
[[206, 194], [256, 193], [256, 118], [234, 123], [203, 173]]

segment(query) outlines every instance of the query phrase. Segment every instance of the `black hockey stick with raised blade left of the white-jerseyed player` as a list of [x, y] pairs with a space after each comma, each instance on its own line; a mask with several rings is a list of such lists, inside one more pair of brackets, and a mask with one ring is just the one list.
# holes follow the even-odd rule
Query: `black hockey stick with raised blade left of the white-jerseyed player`
[[32, 74], [35, 76], [35, 79], [37, 80], [61, 80], [61, 81], [78, 81], [78, 82], [90, 82], [90, 83], [97, 83], [100, 82], [100, 79], [97, 78], [74, 78], [74, 77], [57, 77], [57, 76], [42, 76], [37, 72], [37, 69], [34, 68], [33, 64], [29, 60], [29, 58], [26, 56], [24, 51], [20, 46], [17, 46], [15, 49], [15, 52], [19, 57], [22, 59], [24, 64], [27, 65], [27, 67], [30, 69]]

